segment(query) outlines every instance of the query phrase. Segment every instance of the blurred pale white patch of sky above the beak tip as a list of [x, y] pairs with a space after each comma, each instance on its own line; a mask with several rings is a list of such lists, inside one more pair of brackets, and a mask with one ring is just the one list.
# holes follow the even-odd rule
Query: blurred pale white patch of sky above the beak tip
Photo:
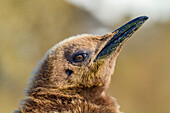
[[105, 25], [123, 17], [149, 16], [152, 22], [170, 21], [170, 0], [66, 0], [85, 9]]

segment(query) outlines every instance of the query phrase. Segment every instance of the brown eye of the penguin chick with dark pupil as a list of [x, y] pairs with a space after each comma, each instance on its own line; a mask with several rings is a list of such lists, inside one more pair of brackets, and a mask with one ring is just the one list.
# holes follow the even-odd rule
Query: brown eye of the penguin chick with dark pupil
[[73, 61], [74, 62], [82, 62], [87, 58], [87, 56], [88, 56], [87, 53], [74, 54], [73, 55]]

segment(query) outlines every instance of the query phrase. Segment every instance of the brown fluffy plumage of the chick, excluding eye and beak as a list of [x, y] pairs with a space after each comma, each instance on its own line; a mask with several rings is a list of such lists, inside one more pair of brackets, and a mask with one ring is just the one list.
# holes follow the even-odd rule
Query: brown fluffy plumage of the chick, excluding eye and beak
[[[41, 61], [27, 97], [16, 112], [117, 113], [114, 99], [103, 92], [110, 82], [114, 58], [98, 65], [92, 65], [93, 60], [81, 64], [70, 63], [69, 59], [76, 51], [87, 51], [95, 58], [101, 46], [112, 36], [81, 35], [54, 46]], [[73, 71], [69, 77], [67, 70]]]

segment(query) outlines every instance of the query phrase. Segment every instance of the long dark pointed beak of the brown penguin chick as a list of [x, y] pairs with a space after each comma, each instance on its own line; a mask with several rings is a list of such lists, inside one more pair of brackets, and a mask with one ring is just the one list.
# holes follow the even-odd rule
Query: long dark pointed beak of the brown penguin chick
[[137, 17], [112, 33], [117, 32], [104, 46], [97, 55], [96, 60], [105, 58], [116, 51], [116, 49], [140, 27], [148, 19], [147, 16]]

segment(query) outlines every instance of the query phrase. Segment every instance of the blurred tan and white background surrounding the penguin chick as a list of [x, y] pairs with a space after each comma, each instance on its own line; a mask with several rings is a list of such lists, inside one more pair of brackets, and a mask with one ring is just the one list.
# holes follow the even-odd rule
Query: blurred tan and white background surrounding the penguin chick
[[102, 35], [140, 15], [149, 20], [128, 41], [108, 95], [125, 113], [170, 113], [169, 0], [0, 0], [0, 113], [24, 98], [46, 51], [69, 36]]

